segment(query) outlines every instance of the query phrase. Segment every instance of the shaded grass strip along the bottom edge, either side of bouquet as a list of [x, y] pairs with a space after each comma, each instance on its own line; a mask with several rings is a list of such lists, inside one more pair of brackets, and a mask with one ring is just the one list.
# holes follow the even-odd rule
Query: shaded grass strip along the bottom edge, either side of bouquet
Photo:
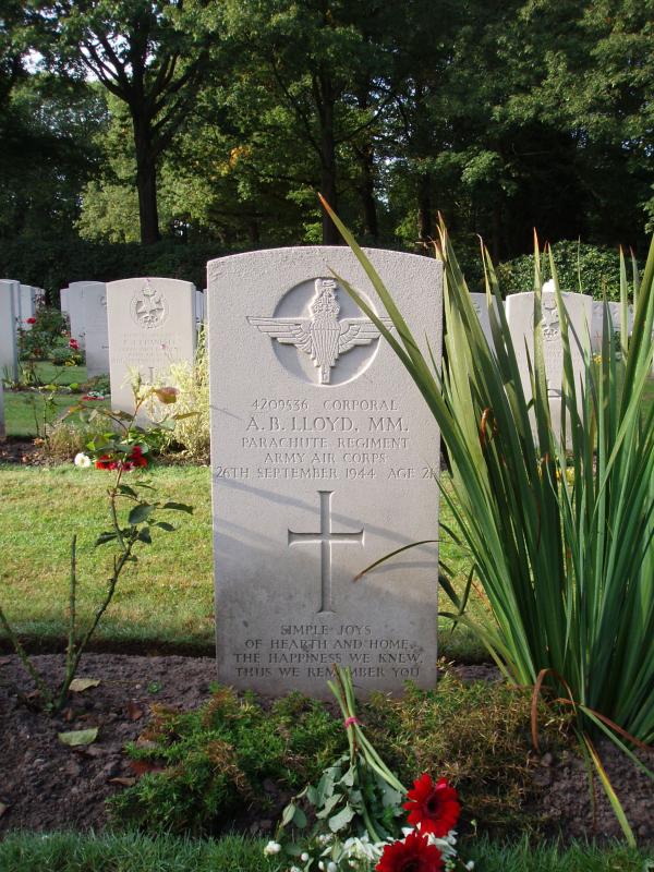
[[[138, 835], [9, 835], [0, 843], [3, 872], [281, 872], [264, 841], [240, 836], [190, 840]], [[462, 849], [480, 872], [644, 872], [654, 855], [620, 846], [594, 848], [471, 840]]]

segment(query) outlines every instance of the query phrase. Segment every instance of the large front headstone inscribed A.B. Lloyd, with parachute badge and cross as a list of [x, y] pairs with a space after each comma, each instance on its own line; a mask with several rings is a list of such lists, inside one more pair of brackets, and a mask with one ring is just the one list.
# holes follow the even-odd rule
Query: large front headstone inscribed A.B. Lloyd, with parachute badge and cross
[[[368, 251], [419, 341], [441, 346], [441, 265]], [[344, 247], [208, 265], [218, 674], [268, 693], [436, 679], [439, 432], [390, 346], [332, 278]], [[387, 322], [390, 325], [390, 320]], [[426, 353], [426, 348], [424, 349]]]

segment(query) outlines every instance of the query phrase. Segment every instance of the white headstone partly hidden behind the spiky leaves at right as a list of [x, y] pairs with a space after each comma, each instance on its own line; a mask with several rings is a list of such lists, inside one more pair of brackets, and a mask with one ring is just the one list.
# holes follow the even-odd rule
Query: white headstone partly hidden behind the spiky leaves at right
[[[560, 335], [560, 324], [556, 294], [554, 291], [543, 289], [543, 353], [545, 358], [545, 378], [547, 380], [547, 397], [552, 412], [552, 426], [555, 434], [561, 428], [561, 385], [564, 379], [564, 344]], [[572, 356], [572, 368], [576, 384], [582, 384], [585, 374], [583, 361], [583, 347], [588, 342], [591, 329], [593, 300], [580, 293], [562, 294], [564, 304], [569, 317], [569, 341]], [[534, 293], [514, 293], [507, 296], [506, 312], [516, 358], [522, 376], [522, 386], [526, 399], [531, 399], [531, 380], [528, 365], [528, 354], [534, 366]], [[577, 334], [577, 339], [573, 335]], [[581, 346], [581, 347], [580, 347]], [[568, 425], [569, 432], [569, 425]]]

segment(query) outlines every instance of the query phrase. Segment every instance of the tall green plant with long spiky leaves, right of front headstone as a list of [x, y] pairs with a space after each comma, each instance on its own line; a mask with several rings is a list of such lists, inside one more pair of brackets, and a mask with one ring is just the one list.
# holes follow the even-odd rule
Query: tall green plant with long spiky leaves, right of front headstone
[[[588, 334], [572, 330], [552, 259], [564, 346], [559, 438], [545, 382], [537, 246], [530, 392], [522, 386], [485, 251], [495, 352], [440, 223], [436, 247], [444, 262], [447, 325], [440, 372], [431, 352], [421, 351], [365, 253], [324, 205], [370, 277], [395, 332], [351, 284], [339, 281], [391, 344], [440, 427], [455, 498], [445, 489], [443, 495], [473, 555], [494, 626], [475, 626], [461, 615], [463, 604], [447, 580], [443, 586], [457, 614], [445, 614], [476, 630], [507, 678], [533, 686], [536, 693], [548, 689], [573, 708], [582, 747], [633, 844], [594, 742], [606, 734], [639, 763], [632, 747], [654, 741], [654, 403], [644, 402], [654, 348], [654, 240], [640, 287], [633, 279], [631, 337], [621, 257], [620, 342], [610, 341], [605, 307], [600, 361], [591, 355]], [[493, 298], [499, 305], [492, 305]], [[573, 372], [572, 343], [584, 352], [583, 384]]]

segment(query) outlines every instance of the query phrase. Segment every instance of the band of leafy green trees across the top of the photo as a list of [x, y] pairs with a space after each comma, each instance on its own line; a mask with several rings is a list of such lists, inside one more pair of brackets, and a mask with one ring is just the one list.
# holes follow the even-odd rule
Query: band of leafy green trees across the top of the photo
[[500, 259], [654, 229], [654, 0], [8, 0], [0, 237]]

